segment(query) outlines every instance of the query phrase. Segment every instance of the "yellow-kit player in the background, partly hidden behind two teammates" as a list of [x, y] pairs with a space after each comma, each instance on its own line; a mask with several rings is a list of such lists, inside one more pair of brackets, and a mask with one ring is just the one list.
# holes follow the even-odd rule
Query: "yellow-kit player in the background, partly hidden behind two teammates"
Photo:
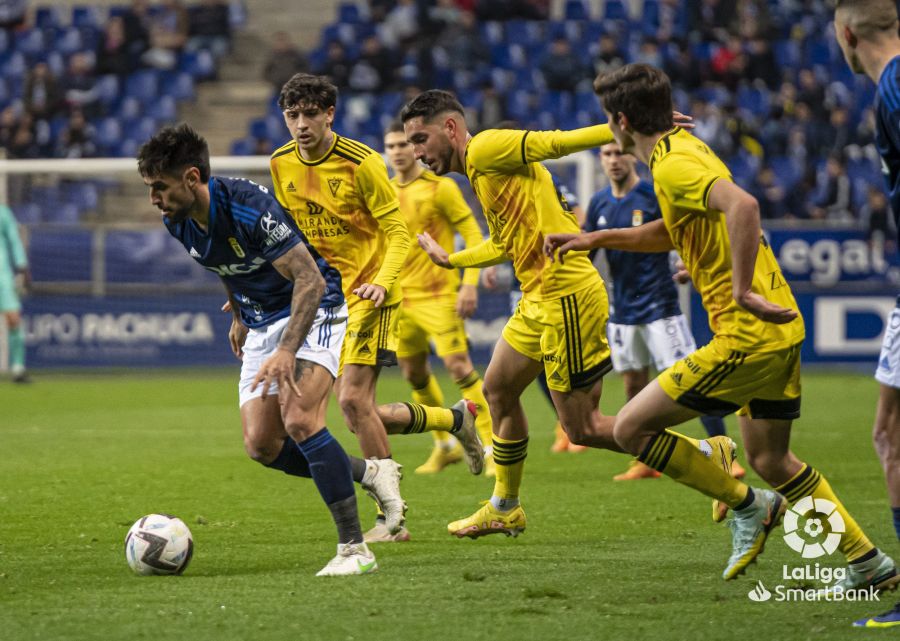
[[[385, 133], [384, 151], [394, 170], [391, 183], [397, 190], [400, 213], [410, 234], [427, 231], [448, 251], [453, 249], [454, 231], [459, 232], [466, 247], [482, 241], [481, 228], [456, 182], [436, 176], [416, 161], [399, 121]], [[410, 249], [400, 270], [403, 302], [397, 359], [403, 376], [413, 388], [413, 400], [422, 405], [442, 406], [441, 388], [428, 366], [429, 341], [433, 342], [435, 352], [444, 361], [463, 398], [477, 406], [475, 427], [482, 443], [489, 444], [491, 417], [481, 391], [481, 377], [469, 358], [463, 325], [463, 319], [471, 316], [478, 304], [478, 275], [479, 270], [467, 269], [460, 282], [456, 271], [436, 266], [418, 246]], [[432, 435], [434, 448], [428, 460], [416, 468], [417, 474], [434, 474], [462, 460], [462, 447], [453, 436], [439, 431]], [[489, 476], [491, 468], [488, 457]]]

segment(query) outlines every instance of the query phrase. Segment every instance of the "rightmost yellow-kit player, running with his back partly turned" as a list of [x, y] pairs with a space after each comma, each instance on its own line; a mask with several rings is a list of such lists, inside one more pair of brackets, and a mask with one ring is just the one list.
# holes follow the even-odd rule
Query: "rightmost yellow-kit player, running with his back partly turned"
[[[843, 519], [839, 549], [849, 568], [828, 593], [895, 586], [900, 576], [893, 560], [872, 545], [825, 477], [790, 449], [791, 424], [800, 416], [803, 319], [761, 233], [758, 203], [732, 182], [706, 144], [674, 126], [671, 86], [662, 71], [627, 65], [598, 77], [594, 89], [623, 151], [650, 166], [662, 218], [628, 229], [550, 235], [545, 251], [553, 256], [557, 250], [558, 262], [568, 262], [581, 255], [569, 252], [599, 247], [675, 249], [713, 331], [707, 345], [663, 371], [620, 410], [616, 441], [650, 467], [734, 510], [724, 578], [746, 569], [787, 503], [799, 502], [794, 509], [801, 513], [830, 505], [825, 511], [834, 509]], [[738, 413], [747, 460], [776, 491], [731, 478], [666, 430], [702, 414], [732, 412]], [[828, 522], [826, 516], [821, 522]]]

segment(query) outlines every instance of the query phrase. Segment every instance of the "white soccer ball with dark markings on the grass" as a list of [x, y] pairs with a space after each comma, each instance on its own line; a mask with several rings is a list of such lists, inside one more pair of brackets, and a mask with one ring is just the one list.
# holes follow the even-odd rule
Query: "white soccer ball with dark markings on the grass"
[[168, 514], [138, 519], [125, 537], [125, 560], [138, 574], [181, 574], [193, 553], [191, 531]]

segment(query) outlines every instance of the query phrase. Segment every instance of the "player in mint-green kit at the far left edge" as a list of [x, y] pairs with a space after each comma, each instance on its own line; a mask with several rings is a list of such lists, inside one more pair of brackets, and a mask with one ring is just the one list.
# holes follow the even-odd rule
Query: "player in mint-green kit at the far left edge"
[[25, 373], [25, 332], [22, 329], [22, 301], [19, 290], [28, 280], [28, 258], [19, 237], [12, 210], [0, 205], [0, 314], [6, 320], [9, 365], [14, 383], [28, 383]]

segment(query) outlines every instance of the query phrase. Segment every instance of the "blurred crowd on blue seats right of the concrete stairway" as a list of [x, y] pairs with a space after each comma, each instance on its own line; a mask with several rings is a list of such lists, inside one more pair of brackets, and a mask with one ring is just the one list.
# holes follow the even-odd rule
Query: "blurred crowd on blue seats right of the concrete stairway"
[[[550, 20], [539, 0], [345, 2], [317, 48], [300, 52], [282, 34], [266, 77], [277, 90], [292, 68], [329, 75], [342, 91], [338, 130], [379, 148], [421, 88], [455, 91], [476, 130], [506, 119], [571, 128], [603, 121], [597, 74], [646, 62], [667, 71], [676, 106], [765, 217], [889, 224], [875, 196], [873, 88], [847, 68], [823, 0], [602, 4], [592, 15], [569, 0]], [[235, 151], [277, 144], [282, 128], [273, 103]]]

